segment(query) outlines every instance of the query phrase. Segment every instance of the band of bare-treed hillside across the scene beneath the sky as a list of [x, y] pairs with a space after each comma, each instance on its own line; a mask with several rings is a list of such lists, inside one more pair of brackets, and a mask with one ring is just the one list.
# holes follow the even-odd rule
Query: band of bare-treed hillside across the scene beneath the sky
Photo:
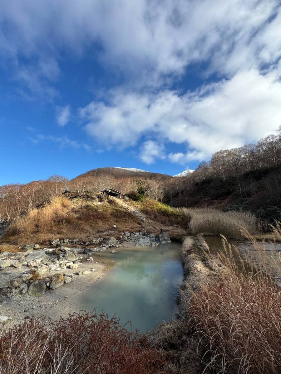
[[67, 189], [93, 194], [103, 188], [136, 191], [169, 205], [251, 210], [268, 223], [281, 220], [281, 137], [269, 135], [257, 144], [214, 153], [187, 177], [99, 168], [73, 180], [54, 175], [45, 181], [0, 187], [0, 219], [18, 219]]

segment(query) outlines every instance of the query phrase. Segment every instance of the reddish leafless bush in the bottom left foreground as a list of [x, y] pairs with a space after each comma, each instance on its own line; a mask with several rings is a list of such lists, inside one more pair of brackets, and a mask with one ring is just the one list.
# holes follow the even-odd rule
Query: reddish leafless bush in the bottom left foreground
[[0, 334], [1, 374], [152, 374], [160, 360], [157, 350], [104, 313], [74, 313], [48, 329], [31, 318]]

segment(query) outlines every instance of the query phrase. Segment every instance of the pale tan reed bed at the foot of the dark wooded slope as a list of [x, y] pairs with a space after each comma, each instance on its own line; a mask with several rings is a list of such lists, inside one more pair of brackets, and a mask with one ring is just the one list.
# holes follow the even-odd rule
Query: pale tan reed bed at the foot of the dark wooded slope
[[212, 208], [181, 208], [188, 219], [193, 234], [213, 233], [226, 237], [241, 237], [241, 227], [249, 233], [263, 232], [262, 223], [250, 212], [223, 212]]

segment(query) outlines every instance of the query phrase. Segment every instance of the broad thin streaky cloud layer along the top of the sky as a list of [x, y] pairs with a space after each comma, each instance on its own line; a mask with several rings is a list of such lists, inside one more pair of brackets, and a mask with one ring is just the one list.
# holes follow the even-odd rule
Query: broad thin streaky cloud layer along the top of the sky
[[133, 77], [138, 85], [161, 85], [192, 63], [229, 75], [272, 64], [280, 58], [280, 27], [278, 0], [3, 0], [0, 53], [16, 68], [20, 56], [38, 59], [52, 80], [45, 56], [83, 55], [98, 41], [103, 64], [119, 67], [130, 84]]

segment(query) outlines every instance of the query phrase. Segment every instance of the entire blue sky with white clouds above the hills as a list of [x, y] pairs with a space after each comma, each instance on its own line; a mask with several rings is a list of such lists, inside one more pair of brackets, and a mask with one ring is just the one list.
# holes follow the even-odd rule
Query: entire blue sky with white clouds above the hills
[[276, 0], [0, 4], [0, 185], [177, 174], [281, 124]]

